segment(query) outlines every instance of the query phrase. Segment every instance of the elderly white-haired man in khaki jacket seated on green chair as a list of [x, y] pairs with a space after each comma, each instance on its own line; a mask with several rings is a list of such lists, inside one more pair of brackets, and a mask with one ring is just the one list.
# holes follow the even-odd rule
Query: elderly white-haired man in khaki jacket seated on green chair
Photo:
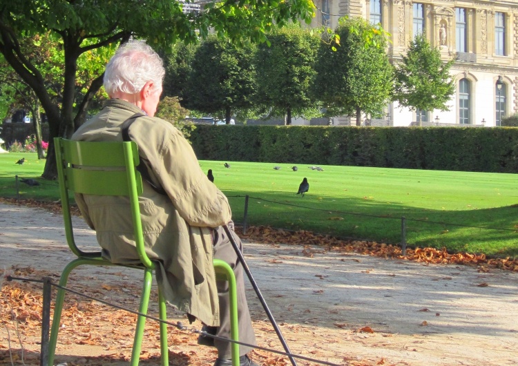
[[[106, 66], [104, 88], [111, 99], [73, 135], [80, 141], [122, 141], [121, 125], [133, 123], [129, 137], [139, 147], [153, 186], [144, 182], [140, 199], [148, 256], [158, 260], [157, 282], [171, 305], [200, 319], [216, 336], [230, 338], [226, 284], [216, 284], [213, 258], [228, 262], [238, 282], [240, 340], [255, 345], [236, 253], [221, 228], [231, 223], [225, 195], [207, 179], [182, 133], [154, 117], [162, 93], [162, 59], [143, 41], [122, 45]], [[115, 263], [138, 262], [128, 201], [78, 195], [77, 204], [96, 231], [103, 255]], [[200, 339], [218, 349], [215, 366], [231, 365], [231, 344]], [[240, 347], [240, 365], [258, 366]]]

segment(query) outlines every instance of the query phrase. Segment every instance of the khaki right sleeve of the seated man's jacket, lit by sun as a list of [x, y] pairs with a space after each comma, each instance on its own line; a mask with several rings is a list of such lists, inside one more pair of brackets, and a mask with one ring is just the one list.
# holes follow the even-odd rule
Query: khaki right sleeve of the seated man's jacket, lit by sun
[[[162, 121], [161, 121], [162, 122]], [[155, 148], [139, 144], [149, 160], [158, 183], [164, 188], [175, 209], [194, 227], [218, 227], [231, 220], [227, 197], [200, 168], [193, 148], [178, 129], [168, 124]], [[158, 128], [153, 128], [160, 131]], [[147, 136], [153, 140], [153, 131]], [[158, 147], [158, 148], [157, 148]]]

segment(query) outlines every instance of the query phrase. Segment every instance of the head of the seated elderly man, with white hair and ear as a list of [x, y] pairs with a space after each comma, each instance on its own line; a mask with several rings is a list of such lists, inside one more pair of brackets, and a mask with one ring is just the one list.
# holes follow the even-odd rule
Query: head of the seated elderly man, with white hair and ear
[[162, 59], [144, 41], [128, 41], [106, 65], [104, 89], [111, 98], [124, 99], [155, 115], [165, 70]]

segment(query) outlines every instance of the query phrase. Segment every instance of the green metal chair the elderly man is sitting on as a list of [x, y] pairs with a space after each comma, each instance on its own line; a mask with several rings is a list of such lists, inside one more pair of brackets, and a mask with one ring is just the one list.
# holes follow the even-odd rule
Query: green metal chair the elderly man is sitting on
[[[61, 139], [59, 137], [54, 139], [54, 143], [66, 240], [70, 250], [77, 256], [77, 258], [68, 263], [61, 272], [59, 285], [65, 287], [70, 272], [83, 264], [121, 266], [121, 264], [113, 264], [102, 258], [100, 251], [85, 252], [77, 247], [70, 216], [69, 193], [125, 195], [129, 197], [131, 202], [135, 243], [142, 265], [123, 265], [122, 267], [144, 270], [144, 284], [140, 297], [139, 312], [140, 314], [147, 314], [155, 263], [146, 255], [144, 240], [142, 238], [142, 224], [138, 205], [138, 195], [142, 194], [142, 177], [135, 169], [135, 166], [139, 164], [137, 144], [135, 144], [135, 142], [77, 142]], [[229, 281], [231, 338], [233, 340], [239, 340], [236, 278], [229, 264], [222, 260], [215, 259], [214, 268], [218, 279]], [[59, 331], [59, 321], [61, 319], [65, 292], [63, 289], [58, 289], [57, 291], [48, 345], [48, 366], [52, 366], [54, 363], [57, 333]], [[158, 307], [160, 319], [166, 320], [166, 302], [160, 290], [158, 291]], [[137, 317], [133, 350], [131, 353], [132, 366], [139, 364], [145, 321], [145, 316]], [[160, 322], [160, 351], [162, 352], [162, 366], [169, 365], [167, 325], [164, 322]], [[233, 366], [239, 365], [239, 345], [236, 343], [232, 343], [232, 364]]]

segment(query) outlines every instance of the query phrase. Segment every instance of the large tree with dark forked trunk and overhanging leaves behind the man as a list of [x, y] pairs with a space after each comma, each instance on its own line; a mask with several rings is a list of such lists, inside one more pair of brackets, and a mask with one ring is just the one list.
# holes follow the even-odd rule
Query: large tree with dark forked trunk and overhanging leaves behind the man
[[[111, 52], [132, 36], [166, 48], [176, 39], [195, 42], [207, 37], [211, 29], [219, 37], [229, 37], [237, 43], [247, 39], [265, 41], [265, 32], [273, 23], [284, 25], [298, 19], [309, 22], [314, 17], [310, 0], [223, 1], [207, 3], [200, 12], [183, 12], [183, 6], [183, 2], [174, 0], [2, 1], [0, 52], [37, 95], [49, 119], [50, 137], [70, 137], [86, 118], [93, 96], [102, 86], [102, 73], [91, 73], [82, 87], [86, 93], [77, 99], [78, 59], [85, 53], [98, 49]], [[21, 47], [24, 37], [46, 32], [63, 45], [60, 103], [52, 99], [43, 73]], [[54, 178], [52, 139], [48, 151], [43, 176]]]

